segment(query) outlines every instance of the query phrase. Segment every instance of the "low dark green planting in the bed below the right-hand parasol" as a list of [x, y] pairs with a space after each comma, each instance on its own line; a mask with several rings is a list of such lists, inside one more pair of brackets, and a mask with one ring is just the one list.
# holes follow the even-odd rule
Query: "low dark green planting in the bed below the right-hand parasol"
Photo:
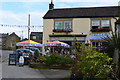
[[62, 56], [60, 54], [51, 54], [51, 55], [46, 55], [45, 56], [46, 65], [66, 65], [66, 64], [71, 64], [73, 60], [67, 56]]

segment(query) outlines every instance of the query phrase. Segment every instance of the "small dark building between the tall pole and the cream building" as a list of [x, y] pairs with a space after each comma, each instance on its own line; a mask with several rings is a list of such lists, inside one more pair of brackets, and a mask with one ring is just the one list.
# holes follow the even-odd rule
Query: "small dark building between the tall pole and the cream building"
[[31, 32], [30, 40], [42, 43], [43, 32]]

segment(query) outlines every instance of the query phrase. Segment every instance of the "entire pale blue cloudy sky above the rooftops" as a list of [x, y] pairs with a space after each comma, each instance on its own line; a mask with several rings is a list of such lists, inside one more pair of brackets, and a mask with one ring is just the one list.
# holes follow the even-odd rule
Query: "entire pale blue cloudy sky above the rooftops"
[[[120, 0], [53, 0], [54, 8], [117, 6]], [[0, 33], [15, 32], [27, 38], [28, 15], [30, 32], [43, 31], [43, 16], [51, 0], [2, 0], [0, 2]], [[1, 26], [6, 25], [6, 26]], [[21, 27], [20, 27], [21, 26]]]

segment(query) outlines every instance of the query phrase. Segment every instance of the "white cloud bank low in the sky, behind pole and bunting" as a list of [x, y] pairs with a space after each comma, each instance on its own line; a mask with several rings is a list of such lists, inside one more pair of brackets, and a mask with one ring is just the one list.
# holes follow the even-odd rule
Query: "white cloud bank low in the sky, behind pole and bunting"
[[[42, 26], [43, 25], [43, 21], [42, 21], [42, 17], [45, 14], [44, 12], [29, 12], [31, 15], [31, 26]], [[21, 34], [23, 34], [24, 38], [27, 38], [28, 35], [28, 27], [24, 27], [27, 26], [28, 24], [28, 14], [29, 13], [13, 13], [11, 11], [0, 11], [0, 24], [4, 24], [4, 25], [12, 25], [13, 27], [1, 27], [0, 32], [1, 33], [12, 33], [15, 32], [17, 33], [18, 36], [21, 37]], [[23, 27], [16, 27], [14, 25], [22, 25]], [[23, 33], [22, 33], [23, 31]], [[42, 27], [34, 27], [30, 29], [30, 31], [34, 31], [34, 32], [40, 32], [43, 31]]]

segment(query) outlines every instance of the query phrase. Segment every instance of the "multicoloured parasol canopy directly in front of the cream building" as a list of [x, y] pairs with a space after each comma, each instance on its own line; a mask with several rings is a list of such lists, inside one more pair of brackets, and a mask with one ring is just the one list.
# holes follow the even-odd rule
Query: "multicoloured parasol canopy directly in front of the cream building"
[[46, 44], [44, 44], [44, 46], [51, 46], [51, 47], [54, 47], [54, 46], [63, 46], [63, 47], [70, 47], [70, 45], [68, 45], [67, 43], [64, 43], [64, 42], [60, 42], [60, 41], [53, 41], [53, 42], [48, 42]]

